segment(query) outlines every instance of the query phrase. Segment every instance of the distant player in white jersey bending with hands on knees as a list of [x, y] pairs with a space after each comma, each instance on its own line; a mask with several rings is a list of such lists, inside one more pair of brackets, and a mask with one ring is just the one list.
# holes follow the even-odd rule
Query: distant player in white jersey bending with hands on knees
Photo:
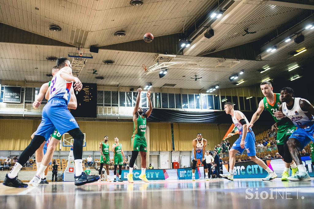
[[207, 145], [207, 140], [203, 139], [203, 136], [201, 133], [198, 133], [196, 139], [193, 139], [192, 145], [193, 145], [193, 155], [194, 159], [192, 160], [192, 181], [195, 181], [195, 169], [196, 169], [196, 163], [198, 159], [200, 159], [204, 166], [205, 171], [205, 180], [208, 181], [208, 170], [207, 170], [207, 164], [205, 160], [205, 149]]

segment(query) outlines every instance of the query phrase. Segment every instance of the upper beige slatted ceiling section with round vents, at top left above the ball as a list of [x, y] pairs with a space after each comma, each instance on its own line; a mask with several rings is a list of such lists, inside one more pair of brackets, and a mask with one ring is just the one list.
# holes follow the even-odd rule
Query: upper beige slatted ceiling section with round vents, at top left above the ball
[[[111, 45], [179, 33], [199, 19], [215, 0], [2, 0], [0, 22], [74, 46]], [[37, 9], [35, 9], [37, 8]], [[51, 24], [62, 30], [52, 32]], [[126, 36], [114, 36], [123, 30]]]

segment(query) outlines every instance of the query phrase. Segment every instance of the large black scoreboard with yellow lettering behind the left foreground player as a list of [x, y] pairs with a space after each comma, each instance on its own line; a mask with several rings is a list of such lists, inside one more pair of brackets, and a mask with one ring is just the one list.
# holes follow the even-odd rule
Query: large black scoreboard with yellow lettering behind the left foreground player
[[75, 118], [97, 117], [97, 83], [83, 83], [81, 91], [75, 91], [78, 106], [70, 110]]

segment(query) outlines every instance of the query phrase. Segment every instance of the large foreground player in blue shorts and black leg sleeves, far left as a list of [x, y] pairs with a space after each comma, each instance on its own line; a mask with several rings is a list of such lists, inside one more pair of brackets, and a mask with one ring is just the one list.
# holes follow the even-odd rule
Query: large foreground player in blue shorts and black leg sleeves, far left
[[[3, 182], [4, 185], [11, 187], [27, 187], [27, 185], [18, 180], [16, 176], [30, 156], [35, 153], [55, 129], [57, 129], [61, 135], [68, 132], [74, 139], [73, 155], [76, 169], [74, 184], [83, 185], [99, 179], [98, 175], [90, 176], [83, 172], [82, 155], [84, 134], [79, 129], [77, 122], [67, 108], [71, 95], [70, 91], [73, 90], [73, 87], [75, 90], [80, 91], [82, 89], [82, 82], [72, 75], [71, 62], [67, 58], [58, 58], [57, 66], [60, 70], [53, 76], [51, 85], [48, 88], [50, 96], [48, 103], [43, 108], [41, 123], [30, 144], [21, 153], [18, 162], [14, 165], [11, 172], [7, 174]], [[74, 85], [73, 82], [75, 82]]]

